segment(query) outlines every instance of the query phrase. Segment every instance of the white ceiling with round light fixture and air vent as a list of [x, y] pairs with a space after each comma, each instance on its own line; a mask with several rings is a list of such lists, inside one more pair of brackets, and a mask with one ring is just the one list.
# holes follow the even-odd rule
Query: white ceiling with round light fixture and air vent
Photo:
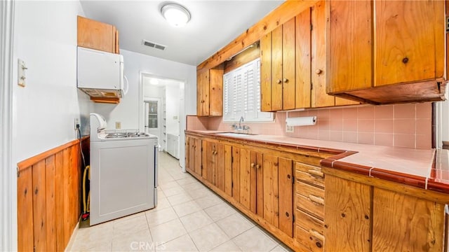
[[[197, 66], [255, 25], [283, 0], [177, 0], [192, 14], [185, 27], [172, 27], [159, 13], [166, 1], [81, 0], [86, 18], [115, 25], [120, 48]], [[158, 50], [142, 40], [166, 45]]]

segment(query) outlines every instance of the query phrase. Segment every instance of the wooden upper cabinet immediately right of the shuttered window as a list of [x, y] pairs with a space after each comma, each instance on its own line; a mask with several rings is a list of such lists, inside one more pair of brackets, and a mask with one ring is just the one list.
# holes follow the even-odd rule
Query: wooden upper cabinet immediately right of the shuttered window
[[358, 104], [326, 92], [326, 2], [260, 39], [262, 111]]

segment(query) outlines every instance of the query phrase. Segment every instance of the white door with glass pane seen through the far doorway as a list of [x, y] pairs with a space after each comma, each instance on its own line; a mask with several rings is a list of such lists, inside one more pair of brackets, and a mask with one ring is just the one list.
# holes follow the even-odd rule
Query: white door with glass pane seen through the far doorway
[[145, 104], [145, 132], [158, 137], [161, 146], [161, 99], [147, 98]]

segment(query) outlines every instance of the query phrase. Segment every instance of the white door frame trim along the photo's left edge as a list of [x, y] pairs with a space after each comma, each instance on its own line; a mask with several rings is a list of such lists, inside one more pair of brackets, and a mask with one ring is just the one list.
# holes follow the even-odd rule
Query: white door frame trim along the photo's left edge
[[[0, 2], [0, 251], [17, 250], [17, 175], [13, 166], [15, 1]], [[17, 71], [17, 70], [15, 70]]]

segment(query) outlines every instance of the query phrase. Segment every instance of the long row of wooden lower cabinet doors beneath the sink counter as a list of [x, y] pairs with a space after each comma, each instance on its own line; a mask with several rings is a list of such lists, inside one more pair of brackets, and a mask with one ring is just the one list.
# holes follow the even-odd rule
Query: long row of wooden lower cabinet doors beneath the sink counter
[[[186, 148], [187, 172], [295, 251], [299, 249], [295, 243], [296, 225], [293, 223], [297, 211], [294, 207], [297, 196], [294, 166], [297, 160], [307, 160], [305, 156], [270, 148], [253, 148], [230, 140], [201, 139], [189, 134], [186, 139], [186, 146], [189, 146]], [[199, 153], [201, 148], [194, 146], [202, 146], [202, 152]], [[199, 160], [202, 165], [198, 164]], [[192, 167], [202, 167], [201, 173]], [[319, 196], [323, 197], [323, 193]], [[323, 221], [322, 217], [319, 221]], [[319, 235], [313, 235], [321, 239], [322, 233], [321, 228]]]

